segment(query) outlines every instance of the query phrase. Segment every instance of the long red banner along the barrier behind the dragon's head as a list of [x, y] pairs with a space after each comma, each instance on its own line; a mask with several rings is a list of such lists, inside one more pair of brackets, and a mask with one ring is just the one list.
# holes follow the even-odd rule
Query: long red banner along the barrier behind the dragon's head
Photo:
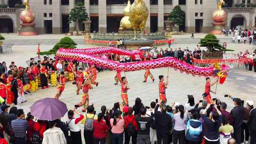
[[209, 63], [252, 63], [252, 59], [195, 59], [194, 63], [209, 64]]

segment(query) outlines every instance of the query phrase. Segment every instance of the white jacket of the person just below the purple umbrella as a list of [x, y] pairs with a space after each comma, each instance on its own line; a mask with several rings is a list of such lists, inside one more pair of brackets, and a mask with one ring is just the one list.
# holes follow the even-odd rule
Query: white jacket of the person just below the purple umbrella
[[42, 144], [67, 144], [62, 130], [58, 127], [52, 127], [44, 132]]

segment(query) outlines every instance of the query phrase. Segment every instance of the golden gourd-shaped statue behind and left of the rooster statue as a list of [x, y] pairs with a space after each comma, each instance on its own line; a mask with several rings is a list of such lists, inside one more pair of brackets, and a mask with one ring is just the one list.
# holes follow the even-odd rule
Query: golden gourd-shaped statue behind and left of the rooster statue
[[131, 22], [129, 21], [130, 7], [131, 7], [131, 2], [130, 0], [128, 0], [127, 6], [123, 11], [124, 17], [120, 21], [120, 26], [119, 26], [120, 31], [132, 30]]

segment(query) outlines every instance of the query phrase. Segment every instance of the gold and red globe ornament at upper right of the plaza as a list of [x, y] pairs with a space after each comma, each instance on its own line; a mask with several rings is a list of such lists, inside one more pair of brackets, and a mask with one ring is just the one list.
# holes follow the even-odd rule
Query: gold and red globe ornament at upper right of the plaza
[[223, 9], [221, 9], [222, 5], [224, 4], [225, 4], [224, 0], [219, 0], [219, 3], [217, 5], [218, 9], [212, 13], [212, 20], [214, 22], [222, 23], [226, 20], [227, 14]]

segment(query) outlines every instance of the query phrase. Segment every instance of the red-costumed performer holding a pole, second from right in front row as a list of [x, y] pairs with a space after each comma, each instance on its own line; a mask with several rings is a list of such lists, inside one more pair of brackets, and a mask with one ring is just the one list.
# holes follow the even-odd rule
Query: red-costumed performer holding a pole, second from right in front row
[[164, 76], [159, 75], [159, 99], [162, 101], [167, 101], [165, 96], [165, 89], [167, 89], [167, 85], [169, 83], [169, 76], [166, 76], [166, 81], [164, 81]]

